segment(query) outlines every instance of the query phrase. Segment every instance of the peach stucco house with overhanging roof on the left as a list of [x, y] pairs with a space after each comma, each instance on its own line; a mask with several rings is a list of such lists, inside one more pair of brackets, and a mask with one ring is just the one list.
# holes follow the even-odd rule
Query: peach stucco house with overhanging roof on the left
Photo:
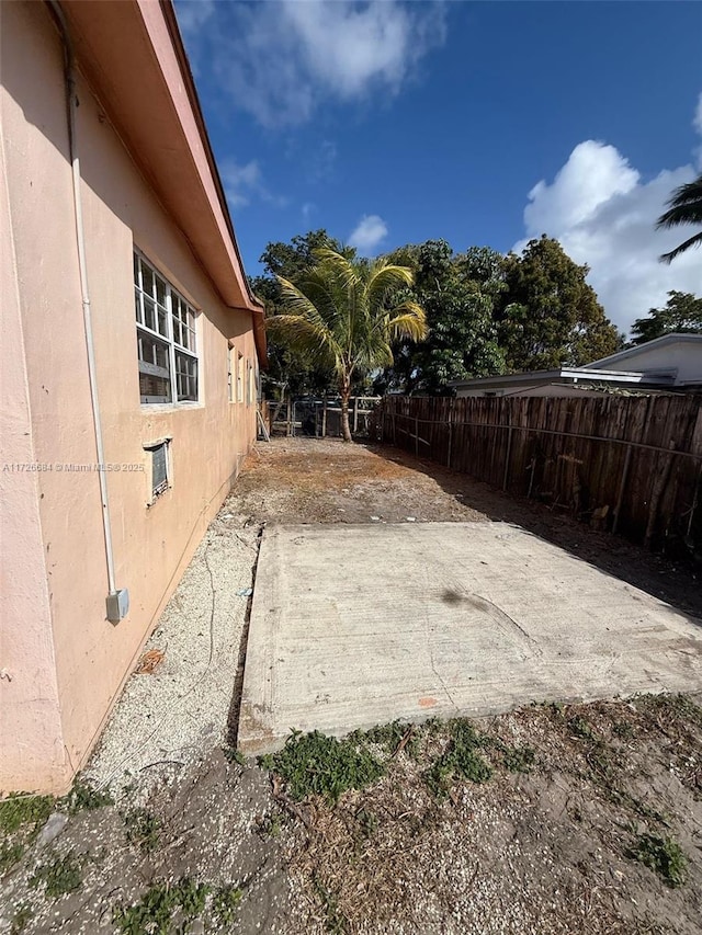
[[60, 791], [256, 438], [265, 338], [171, 3], [0, 15], [0, 791]]

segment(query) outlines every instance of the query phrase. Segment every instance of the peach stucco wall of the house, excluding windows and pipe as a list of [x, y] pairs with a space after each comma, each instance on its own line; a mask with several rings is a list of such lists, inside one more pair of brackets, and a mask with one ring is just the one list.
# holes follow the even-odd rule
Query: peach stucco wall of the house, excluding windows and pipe
[[[98, 474], [57, 469], [57, 465], [97, 461], [61, 46], [44, 4], [2, 7], [4, 168], [15, 258], [8, 276], [16, 284], [16, 324], [25, 352], [25, 372], [18, 366], [9, 379], [18, 399], [25, 387], [32, 459], [53, 466], [34, 475], [34, 493], [22, 478], [21, 501], [20, 487], [12, 486], [19, 480], [5, 480], [5, 491], [19, 513], [36, 514], [32, 541], [19, 543], [14, 567], [31, 581], [34, 602], [41, 603], [42, 589], [46, 590], [47, 608], [36, 625], [35, 642], [44, 646], [44, 674], [55, 660], [57, 691], [47, 704], [55, 708], [58, 698], [66, 761], [66, 765], [52, 765], [46, 751], [43, 773], [36, 763], [23, 765], [29, 761], [19, 754], [20, 730], [25, 740], [36, 737], [38, 743], [46, 727], [38, 711], [36, 716], [22, 712], [37, 685], [27, 653], [18, 650], [11, 657], [12, 681], [0, 680], [0, 789], [7, 790], [19, 785], [59, 788], [84, 762], [140, 646], [254, 438], [254, 408], [228, 400], [229, 339], [252, 362], [256, 351], [250, 315], [227, 309], [218, 299], [81, 82], [78, 138], [105, 461], [145, 468], [107, 475], [116, 583], [128, 588], [131, 595], [128, 616], [113, 626], [105, 619], [107, 578]], [[140, 404], [133, 246], [202, 309], [199, 403]], [[150, 456], [143, 446], [167, 435], [173, 440], [172, 488], [147, 506]], [[29, 457], [16, 446], [11, 454]], [[37, 580], [39, 536], [43, 580]], [[26, 608], [16, 601], [3, 619], [3, 652], [5, 641], [20, 646], [26, 626]], [[55, 734], [55, 729], [48, 733]], [[43, 744], [42, 749], [45, 740]], [[36, 782], [27, 768], [30, 774], [34, 769]]]

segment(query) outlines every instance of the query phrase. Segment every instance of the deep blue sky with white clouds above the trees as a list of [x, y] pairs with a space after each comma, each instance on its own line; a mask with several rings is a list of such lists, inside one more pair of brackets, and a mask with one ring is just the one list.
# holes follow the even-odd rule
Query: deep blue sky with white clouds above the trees
[[247, 271], [325, 227], [373, 255], [557, 237], [626, 329], [702, 168], [702, 3], [177, 0]]

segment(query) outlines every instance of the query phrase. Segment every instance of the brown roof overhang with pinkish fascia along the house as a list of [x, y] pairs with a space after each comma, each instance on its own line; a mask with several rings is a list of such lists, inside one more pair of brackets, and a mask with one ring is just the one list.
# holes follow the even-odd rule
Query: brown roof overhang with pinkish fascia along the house
[[171, 0], [61, 0], [77, 64], [225, 305], [253, 316], [265, 364], [263, 306], [239, 254]]

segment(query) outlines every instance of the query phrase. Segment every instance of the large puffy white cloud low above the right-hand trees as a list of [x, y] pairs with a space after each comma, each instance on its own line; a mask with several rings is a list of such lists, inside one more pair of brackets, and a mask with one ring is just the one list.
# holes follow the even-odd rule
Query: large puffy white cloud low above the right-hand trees
[[[615, 147], [586, 140], [553, 182], [542, 180], [529, 193], [526, 239], [547, 233], [577, 263], [587, 263], [608, 317], [629, 331], [635, 318], [665, 305], [668, 290], [702, 294], [702, 251], [689, 250], [666, 265], [659, 255], [684, 240], [686, 229], [656, 230], [672, 191], [695, 174], [682, 166], [645, 180]], [[521, 251], [526, 239], [513, 249]]]

